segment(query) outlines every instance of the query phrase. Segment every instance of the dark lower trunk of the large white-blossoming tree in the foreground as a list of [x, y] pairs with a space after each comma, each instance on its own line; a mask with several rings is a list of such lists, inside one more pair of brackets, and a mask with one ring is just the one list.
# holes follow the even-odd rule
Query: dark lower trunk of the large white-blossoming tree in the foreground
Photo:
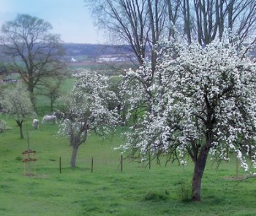
[[201, 200], [201, 182], [203, 177], [203, 171], [206, 168], [207, 156], [210, 148], [206, 146], [202, 147], [197, 161], [195, 161], [194, 176], [192, 180], [192, 201]]

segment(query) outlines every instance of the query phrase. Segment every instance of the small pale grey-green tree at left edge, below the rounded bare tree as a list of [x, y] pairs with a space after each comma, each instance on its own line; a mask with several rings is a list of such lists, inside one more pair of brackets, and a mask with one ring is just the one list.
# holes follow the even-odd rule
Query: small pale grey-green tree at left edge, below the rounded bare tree
[[4, 112], [15, 118], [20, 128], [20, 139], [23, 139], [23, 122], [26, 117], [34, 113], [29, 92], [24, 90], [21, 83], [18, 82], [15, 88], [4, 90], [3, 96], [4, 99], [1, 101], [1, 106]]

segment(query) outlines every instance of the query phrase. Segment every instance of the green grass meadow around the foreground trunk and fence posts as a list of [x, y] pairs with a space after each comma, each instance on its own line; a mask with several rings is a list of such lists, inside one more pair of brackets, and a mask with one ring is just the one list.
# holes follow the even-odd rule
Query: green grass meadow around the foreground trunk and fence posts
[[19, 139], [14, 120], [5, 120], [12, 129], [0, 134], [0, 215], [255, 215], [256, 182], [246, 180], [235, 187], [236, 181], [224, 178], [236, 175], [235, 161], [219, 169], [209, 161], [198, 203], [178, 198], [178, 188], [191, 182], [190, 162], [184, 167], [152, 163], [145, 169], [145, 164], [126, 160], [121, 172], [120, 153], [113, 150], [123, 142], [121, 128], [112, 140], [89, 136], [80, 147], [78, 167], [71, 169], [71, 147], [56, 135], [58, 127], [32, 130], [27, 121], [25, 134], [29, 130], [31, 149], [37, 151], [36, 175], [28, 177], [21, 162], [27, 141]]

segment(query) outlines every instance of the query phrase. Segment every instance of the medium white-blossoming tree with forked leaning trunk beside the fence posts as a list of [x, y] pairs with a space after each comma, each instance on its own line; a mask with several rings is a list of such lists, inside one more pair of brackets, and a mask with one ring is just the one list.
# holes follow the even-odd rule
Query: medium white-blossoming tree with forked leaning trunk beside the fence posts
[[77, 82], [66, 99], [67, 110], [63, 115], [59, 134], [68, 135], [72, 146], [71, 167], [75, 167], [78, 148], [86, 142], [89, 130], [97, 134], [108, 133], [115, 126], [115, 109], [108, 109], [110, 101], [116, 100], [108, 88], [108, 77], [95, 72], [80, 72]]

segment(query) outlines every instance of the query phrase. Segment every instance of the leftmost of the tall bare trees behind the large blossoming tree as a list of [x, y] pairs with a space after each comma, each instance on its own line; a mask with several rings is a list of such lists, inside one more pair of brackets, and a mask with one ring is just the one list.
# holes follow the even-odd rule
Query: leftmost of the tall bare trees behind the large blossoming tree
[[146, 53], [146, 0], [86, 0], [87, 5], [96, 18], [99, 28], [115, 33], [119, 42], [127, 42], [135, 53], [138, 63], [143, 64]]

